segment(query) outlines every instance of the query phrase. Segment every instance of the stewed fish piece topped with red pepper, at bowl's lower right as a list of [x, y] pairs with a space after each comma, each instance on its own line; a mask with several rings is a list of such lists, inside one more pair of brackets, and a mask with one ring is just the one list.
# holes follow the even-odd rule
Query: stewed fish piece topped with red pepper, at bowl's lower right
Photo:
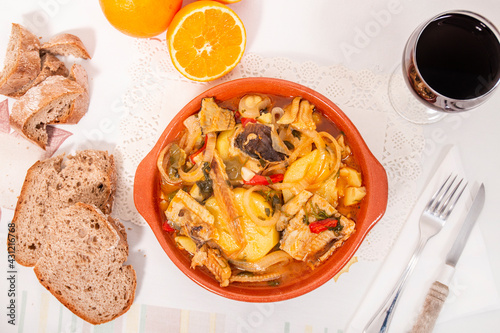
[[354, 231], [354, 221], [314, 194], [288, 223], [280, 249], [314, 268], [328, 259]]

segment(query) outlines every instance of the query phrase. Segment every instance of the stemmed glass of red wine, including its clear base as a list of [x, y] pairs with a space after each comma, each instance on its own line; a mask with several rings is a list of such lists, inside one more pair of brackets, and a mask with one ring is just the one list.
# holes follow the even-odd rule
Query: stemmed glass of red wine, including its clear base
[[453, 10], [412, 33], [390, 78], [389, 99], [403, 118], [427, 124], [484, 103], [499, 82], [500, 33], [479, 14]]

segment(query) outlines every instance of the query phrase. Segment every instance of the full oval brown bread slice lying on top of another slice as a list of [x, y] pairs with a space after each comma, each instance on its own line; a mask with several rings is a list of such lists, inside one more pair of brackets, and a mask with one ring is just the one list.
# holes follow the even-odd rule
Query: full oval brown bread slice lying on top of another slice
[[94, 325], [125, 313], [135, 297], [136, 274], [123, 265], [128, 245], [115, 223], [87, 204], [61, 210], [49, 224], [50, 242], [34, 268], [47, 290]]

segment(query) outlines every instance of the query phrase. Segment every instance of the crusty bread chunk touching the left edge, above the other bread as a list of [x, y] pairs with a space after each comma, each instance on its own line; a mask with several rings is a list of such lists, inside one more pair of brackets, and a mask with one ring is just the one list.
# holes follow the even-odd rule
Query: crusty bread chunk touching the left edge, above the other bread
[[33, 81], [40, 73], [40, 41], [20, 24], [13, 23], [4, 68], [0, 73], [0, 94], [10, 95]]

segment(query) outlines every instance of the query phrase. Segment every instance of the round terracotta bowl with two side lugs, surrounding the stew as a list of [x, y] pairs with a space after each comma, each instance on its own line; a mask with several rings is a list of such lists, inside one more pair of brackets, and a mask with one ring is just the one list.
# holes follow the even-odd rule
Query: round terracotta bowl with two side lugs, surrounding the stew
[[[247, 93], [278, 96], [301, 96], [316, 106], [345, 133], [356, 156], [367, 190], [356, 222], [356, 232], [325, 263], [293, 283], [279, 286], [244, 287], [219, 283], [199, 268], [190, 268], [190, 259], [176, 248], [170, 235], [162, 230], [163, 212], [158, 207], [160, 176], [156, 160], [161, 149], [173, 141], [183, 129], [182, 122], [200, 109], [201, 99], [215, 97], [227, 100]], [[294, 298], [318, 288], [333, 278], [353, 257], [368, 231], [380, 220], [387, 205], [387, 176], [382, 165], [375, 159], [363, 138], [347, 116], [330, 100], [302, 85], [271, 78], [244, 78], [222, 83], [189, 102], [167, 126], [151, 152], [139, 164], [135, 175], [134, 201], [139, 213], [146, 219], [160, 245], [173, 263], [190, 279], [203, 288], [223, 297], [246, 302], [275, 302]]]

